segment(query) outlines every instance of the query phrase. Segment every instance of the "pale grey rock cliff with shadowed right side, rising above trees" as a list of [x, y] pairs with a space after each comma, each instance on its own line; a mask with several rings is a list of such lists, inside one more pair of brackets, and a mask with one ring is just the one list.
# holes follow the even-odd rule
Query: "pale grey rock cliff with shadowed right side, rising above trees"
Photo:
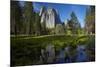
[[56, 24], [61, 23], [60, 17], [53, 8], [42, 7], [40, 10], [41, 23], [45, 23], [46, 28], [54, 28]]

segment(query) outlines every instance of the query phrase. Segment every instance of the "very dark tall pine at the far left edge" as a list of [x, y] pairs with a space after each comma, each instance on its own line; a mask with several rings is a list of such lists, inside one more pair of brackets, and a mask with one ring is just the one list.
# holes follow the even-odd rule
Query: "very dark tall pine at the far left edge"
[[22, 11], [18, 1], [11, 1], [11, 34], [20, 34], [22, 30]]

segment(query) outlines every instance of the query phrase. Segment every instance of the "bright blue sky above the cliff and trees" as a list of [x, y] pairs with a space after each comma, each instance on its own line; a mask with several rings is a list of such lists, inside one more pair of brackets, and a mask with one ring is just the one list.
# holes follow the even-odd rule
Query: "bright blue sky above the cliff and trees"
[[[21, 5], [23, 6], [23, 2], [21, 2]], [[72, 11], [74, 11], [74, 13], [76, 14], [81, 24], [81, 27], [84, 27], [86, 9], [88, 8], [89, 5], [33, 2], [33, 6], [34, 6], [35, 12], [39, 12], [42, 6], [45, 6], [46, 8], [48, 7], [54, 8], [59, 14], [62, 22], [65, 22], [67, 21], [67, 19], [70, 19], [70, 14]]]

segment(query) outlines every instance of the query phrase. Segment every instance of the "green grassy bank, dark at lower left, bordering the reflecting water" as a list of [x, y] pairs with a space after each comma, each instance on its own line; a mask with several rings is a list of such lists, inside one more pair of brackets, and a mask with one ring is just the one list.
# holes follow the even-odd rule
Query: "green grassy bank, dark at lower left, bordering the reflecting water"
[[[73, 50], [77, 45], [87, 45], [89, 49], [94, 47], [95, 36], [11, 36], [11, 65], [38, 64], [41, 49], [44, 49], [49, 43], [55, 46], [56, 52], [66, 46], [71, 46]], [[91, 46], [91, 44], [93, 45]]]

